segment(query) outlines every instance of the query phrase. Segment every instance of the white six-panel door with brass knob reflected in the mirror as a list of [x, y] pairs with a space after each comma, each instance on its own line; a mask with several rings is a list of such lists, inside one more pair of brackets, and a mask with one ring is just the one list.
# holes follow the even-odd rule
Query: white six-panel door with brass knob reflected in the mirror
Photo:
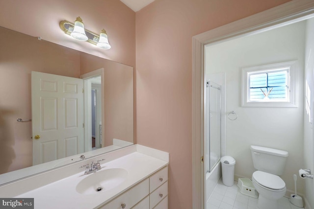
[[33, 165], [84, 152], [82, 90], [82, 79], [31, 72]]

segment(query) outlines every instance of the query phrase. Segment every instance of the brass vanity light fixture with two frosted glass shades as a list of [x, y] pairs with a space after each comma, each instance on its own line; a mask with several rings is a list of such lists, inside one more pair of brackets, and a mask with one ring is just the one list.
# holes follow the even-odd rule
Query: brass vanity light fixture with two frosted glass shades
[[80, 17], [76, 19], [75, 23], [64, 20], [61, 21], [59, 25], [61, 30], [65, 34], [71, 35], [74, 39], [78, 41], [87, 41], [103, 49], [111, 48], [105, 29], [100, 32], [100, 35], [92, 31], [86, 30]]

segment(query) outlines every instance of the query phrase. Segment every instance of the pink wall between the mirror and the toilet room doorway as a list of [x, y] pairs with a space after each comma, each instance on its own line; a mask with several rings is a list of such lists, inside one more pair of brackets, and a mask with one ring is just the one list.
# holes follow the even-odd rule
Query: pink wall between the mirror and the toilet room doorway
[[136, 13], [137, 143], [170, 153], [169, 208], [192, 208], [192, 36], [289, 0], [156, 0]]

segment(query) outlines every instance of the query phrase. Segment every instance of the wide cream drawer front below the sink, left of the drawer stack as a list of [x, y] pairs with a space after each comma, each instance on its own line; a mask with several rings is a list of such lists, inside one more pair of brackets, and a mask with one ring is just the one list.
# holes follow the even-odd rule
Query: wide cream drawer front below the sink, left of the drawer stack
[[131, 209], [136, 203], [149, 194], [149, 180], [134, 186], [100, 209]]

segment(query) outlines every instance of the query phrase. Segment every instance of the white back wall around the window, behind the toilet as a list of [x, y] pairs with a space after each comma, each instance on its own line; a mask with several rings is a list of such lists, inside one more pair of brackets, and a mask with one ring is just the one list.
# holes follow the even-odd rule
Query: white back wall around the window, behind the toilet
[[[266, 31], [253, 36], [206, 47], [206, 73], [226, 72], [226, 114], [235, 111], [235, 121], [226, 119], [226, 154], [235, 158], [235, 176], [251, 178], [250, 145], [289, 152], [282, 179], [293, 190], [293, 174], [303, 166], [305, 23]], [[298, 108], [241, 107], [241, 69], [298, 60]], [[304, 182], [298, 181], [298, 191]]]

